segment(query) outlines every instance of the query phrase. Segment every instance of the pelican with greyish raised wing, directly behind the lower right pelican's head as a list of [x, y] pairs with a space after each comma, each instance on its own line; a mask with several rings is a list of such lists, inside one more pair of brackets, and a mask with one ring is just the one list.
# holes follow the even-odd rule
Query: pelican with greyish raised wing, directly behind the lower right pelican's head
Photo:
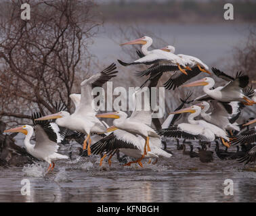
[[[211, 101], [211, 106], [213, 107], [211, 113], [206, 113], [210, 109], [209, 103], [202, 101], [202, 103], [199, 105], [201, 105], [202, 108], [200, 115], [205, 119], [205, 121], [218, 126], [222, 130], [240, 131], [238, 125], [230, 123], [230, 116], [232, 115], [233, 111], [231, 105], [223, 104], [218, 101]], [[229, 113], [226, 108], [227, 106], [229, 107], [228, 109], [231, 110]]]

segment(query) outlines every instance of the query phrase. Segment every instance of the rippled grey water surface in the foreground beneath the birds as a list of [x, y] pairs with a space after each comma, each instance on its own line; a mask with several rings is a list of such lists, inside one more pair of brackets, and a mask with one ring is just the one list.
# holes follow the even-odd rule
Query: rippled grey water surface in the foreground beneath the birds
[[[60, 162], [54, 173], [35, 178], [35, 169], [1, 168], [1, 202], [255, 202], [256, 173], [244, 171], [236, 161], [200, 163], [175, 151], [171, 159], [144, 168], [123, 167], [113, 159], [112, 167], [99, 167], [98, 157]], [[212, 147], [213, 150], [214, 146]], [[251, 165], [254, 167], [255, 165]], [[24, 169], [23, 169], [24, 170]], [[21, 180], [30, 180], [30, 196], [22, 196]], [[224, 180], [234, 181], [234, 196], [223, 194]]]

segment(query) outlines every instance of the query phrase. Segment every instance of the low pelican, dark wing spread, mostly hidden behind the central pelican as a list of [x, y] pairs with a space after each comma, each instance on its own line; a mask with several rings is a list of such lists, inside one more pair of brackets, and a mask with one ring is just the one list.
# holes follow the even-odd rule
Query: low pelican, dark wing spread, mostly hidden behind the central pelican
[[[108, 130], [112, 130], [110, 127]], [[144, 155], [144, 138], [142, 136], [135, 136], [125, 130], [114, 130], [112, 134], [102, 138], [100, 141], [96, 142], [91, 146], [91, 153], [98, 155], [104, 153], [102, 159], [100, 159], [100, 165], [102, 165], [103, 159], [110, 155], [108, 159], [108, 164], [111, 165], [110, 159], [112, 155], [119, 150], [121, 153], [137, 158], [136, 161], [129, 162], [125, 165], [131, 165], [131, 163], [138, 163], [143, 167], [140, 158]], [[150, 151], [144, 155], [144, 158], [155, 158], [156, 161], [158, 157], [171, 157], [172, 155], [163, 151], [161, 148], [161, 140], [159, 138], [150, 138], [149, 140]], [[155, 163], [156, 163], [155, 161]]]

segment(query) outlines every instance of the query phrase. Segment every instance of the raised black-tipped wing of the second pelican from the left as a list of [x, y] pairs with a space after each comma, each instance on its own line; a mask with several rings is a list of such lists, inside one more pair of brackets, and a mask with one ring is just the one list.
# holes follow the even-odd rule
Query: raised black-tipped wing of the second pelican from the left
[[75, 113], [88, 114], [96, 113], [93, 103], [92, 90], [94, 87], [101, 87], [105, 82], [116, 76], [116, 64], [112, 63], [102, 72], [91, 76], [89, 79], [81, 82], [81, 102]]

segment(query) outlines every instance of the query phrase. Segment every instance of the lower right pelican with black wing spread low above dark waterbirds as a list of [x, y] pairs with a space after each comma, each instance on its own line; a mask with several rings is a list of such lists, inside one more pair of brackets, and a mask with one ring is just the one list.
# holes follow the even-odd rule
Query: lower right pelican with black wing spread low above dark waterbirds
[[[174, 111], [171, 114], [177, 113], [191, 113], [188, 115], [188, 122], [182, 123], [174, 126], [170, 126], [167, 129], [158, 130], [158, 134], [161, 136], [174, 137], [174, 138], [185, 138], [189, 140], [203, 140], [203, 141], [214, 141], [215, 137], [221, 138], [222, 143], [225, 146], [230, 146], [228, 136], [226, 132], [224, 132], [221, 128], [213, 124], [209, 124], [203, 120], [195, 120], [194, 117], [200, 115], [201, 107], [198, 105], [193, 105], [191, 107], [180, 109], [178, 111]], [[225, 140], [224, 140], [225, 139]]]

